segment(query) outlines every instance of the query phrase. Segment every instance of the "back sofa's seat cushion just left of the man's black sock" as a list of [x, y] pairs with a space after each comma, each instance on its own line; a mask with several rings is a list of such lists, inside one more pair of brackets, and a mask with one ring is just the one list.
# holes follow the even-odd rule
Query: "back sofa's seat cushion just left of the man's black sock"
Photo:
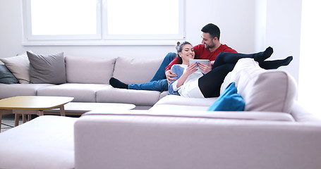
[[73, 101], [96, 102], [96, 91], [109, 84], [65, 83], [39, 89], [39, 96], [72, 96]]

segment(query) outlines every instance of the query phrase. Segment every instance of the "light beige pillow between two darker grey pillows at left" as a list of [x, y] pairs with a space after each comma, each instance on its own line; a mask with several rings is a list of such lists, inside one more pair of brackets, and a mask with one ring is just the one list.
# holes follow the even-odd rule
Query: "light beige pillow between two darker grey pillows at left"
[[[32, 51], [30, 51], [32, 52]], [[0, 58], [8, 70], [19, 80], [20, 83], [30, 83], [29, 59], [27, 53], [9, 58]]]

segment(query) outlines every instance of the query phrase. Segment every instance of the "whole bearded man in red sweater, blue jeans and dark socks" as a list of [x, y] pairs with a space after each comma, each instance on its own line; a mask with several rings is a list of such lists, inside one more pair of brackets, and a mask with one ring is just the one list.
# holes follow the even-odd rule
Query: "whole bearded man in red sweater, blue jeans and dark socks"
[[[217, 25], [209, 23], [202, 27], [202, 44], [193, 46], [195, 51], [195, 58], [197, 59], [209, 59], [211, 61], [208, 69], [212, 69], [212, 64], [217, 58], [217, 55], [224, 52], [237, 53], [234, 49], [231, 49], [226, 44], [219, 42], [220, 30]], [[181, 61], [176, 57], [176, 54], [170, 52], [164, 58], [164, 61], [159, 66], [157, 73], [150, 80], [150, 82], [143, 84], [125, 84], [114, 77], [111, 77], [109, 83], [112, 87], [121, 89], [137, 89], [137, 90], [154, 90], [154, 91], [166, 91], [168, 89], [169, 80], [174, 80], [176, 75], [171, 71], [171, 66], [174, 64], [181, 64]], [[165, 75], [164, 75], [165, 72]], [[166, 79], [165, 79], [166, 77]]]

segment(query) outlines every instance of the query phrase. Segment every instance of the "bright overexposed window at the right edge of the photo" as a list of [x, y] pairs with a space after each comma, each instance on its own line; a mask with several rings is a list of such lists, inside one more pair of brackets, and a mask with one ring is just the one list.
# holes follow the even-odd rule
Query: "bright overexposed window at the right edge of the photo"
[[298, 101], [311, 113], [320, 113], [320, 63], [317, 50], [320, 47], [321, 23], [313, 18], [321, 15], [320, 1], [302, 1], [301, 54], [298, 82]]

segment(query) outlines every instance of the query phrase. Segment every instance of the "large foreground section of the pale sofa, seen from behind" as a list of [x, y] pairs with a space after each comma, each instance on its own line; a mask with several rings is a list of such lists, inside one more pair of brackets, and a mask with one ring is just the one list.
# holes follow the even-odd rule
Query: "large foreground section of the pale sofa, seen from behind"
[[291, 75], [244, 58], [221, 92], [230, 82], [244, 111], [207, 111], [217, 98], [159, 93], [148, 111], [35, 118], [0, 134], [0, 168], [321, 168], [321, 120], [295, 101]]

